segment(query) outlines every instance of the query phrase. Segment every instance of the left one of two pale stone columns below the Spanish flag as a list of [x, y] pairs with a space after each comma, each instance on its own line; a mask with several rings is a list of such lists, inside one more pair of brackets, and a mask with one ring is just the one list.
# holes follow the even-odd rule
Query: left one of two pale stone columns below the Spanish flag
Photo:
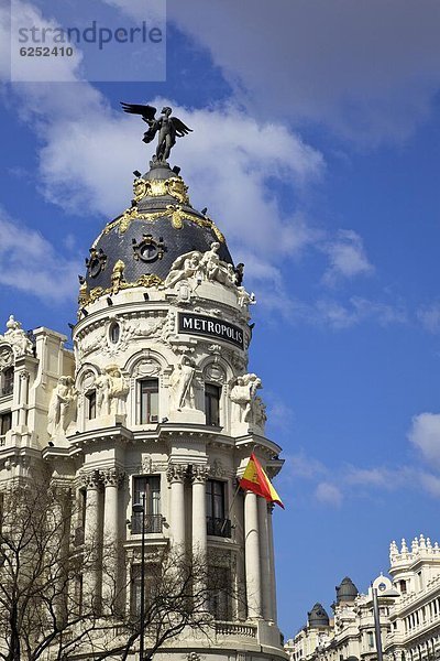
[[244, 552], [248, 595], [248, 617], [262, 617], [258, 506], [255, 494], [244, 497]]

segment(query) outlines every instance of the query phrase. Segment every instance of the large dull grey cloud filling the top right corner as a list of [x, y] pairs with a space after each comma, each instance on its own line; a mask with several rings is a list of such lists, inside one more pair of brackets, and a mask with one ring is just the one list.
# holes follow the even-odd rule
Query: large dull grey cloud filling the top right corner
[[369, 148], [410, 134], [439, 88], [435, 0], [253, 0], [252, 11], [233, 0], [169, 0], [168, 18], [253, 112], [323, 123]]

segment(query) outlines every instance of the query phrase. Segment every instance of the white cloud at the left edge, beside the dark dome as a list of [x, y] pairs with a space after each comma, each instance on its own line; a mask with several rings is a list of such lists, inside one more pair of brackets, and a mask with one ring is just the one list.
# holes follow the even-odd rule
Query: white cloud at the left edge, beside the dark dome
[[0, 236], [0, 284], [44, 301], [74, 297], [77, 273], [81, 270], [76, 260], [63, 259], [47, 239], [11, 219], [1, 208]]

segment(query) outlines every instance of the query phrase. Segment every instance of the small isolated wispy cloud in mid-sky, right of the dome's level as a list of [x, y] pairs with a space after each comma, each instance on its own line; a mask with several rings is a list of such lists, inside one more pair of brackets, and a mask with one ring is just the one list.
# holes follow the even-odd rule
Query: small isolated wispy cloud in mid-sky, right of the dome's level
[[362, 238], [353, 230], [340, 229], [336, 240], [322, 246], [329, 258], [329, 267], [323, 274], [323, 282], [333, 285], [342, 278], [367, 275], [373, 272]]

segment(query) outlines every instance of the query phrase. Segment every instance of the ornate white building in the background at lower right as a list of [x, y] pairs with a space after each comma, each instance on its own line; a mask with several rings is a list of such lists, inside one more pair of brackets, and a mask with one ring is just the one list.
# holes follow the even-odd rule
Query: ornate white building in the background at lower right
[[[389, 661], [440, 658], [440, 548], [421, 534], [410, 549], [391, 544], [389, 574], [377, 589], [382, 649]], [[342, 593], [342, 594], [341, 594]], [[372, 588], [358, 594], [350, 578], [337, 588], [334, 618], [317, 604], [308, 624], [286, 644], [292, 661], [346, 661], [377, 658]], [[320, 610], [321, 615], [317, 615]]]

